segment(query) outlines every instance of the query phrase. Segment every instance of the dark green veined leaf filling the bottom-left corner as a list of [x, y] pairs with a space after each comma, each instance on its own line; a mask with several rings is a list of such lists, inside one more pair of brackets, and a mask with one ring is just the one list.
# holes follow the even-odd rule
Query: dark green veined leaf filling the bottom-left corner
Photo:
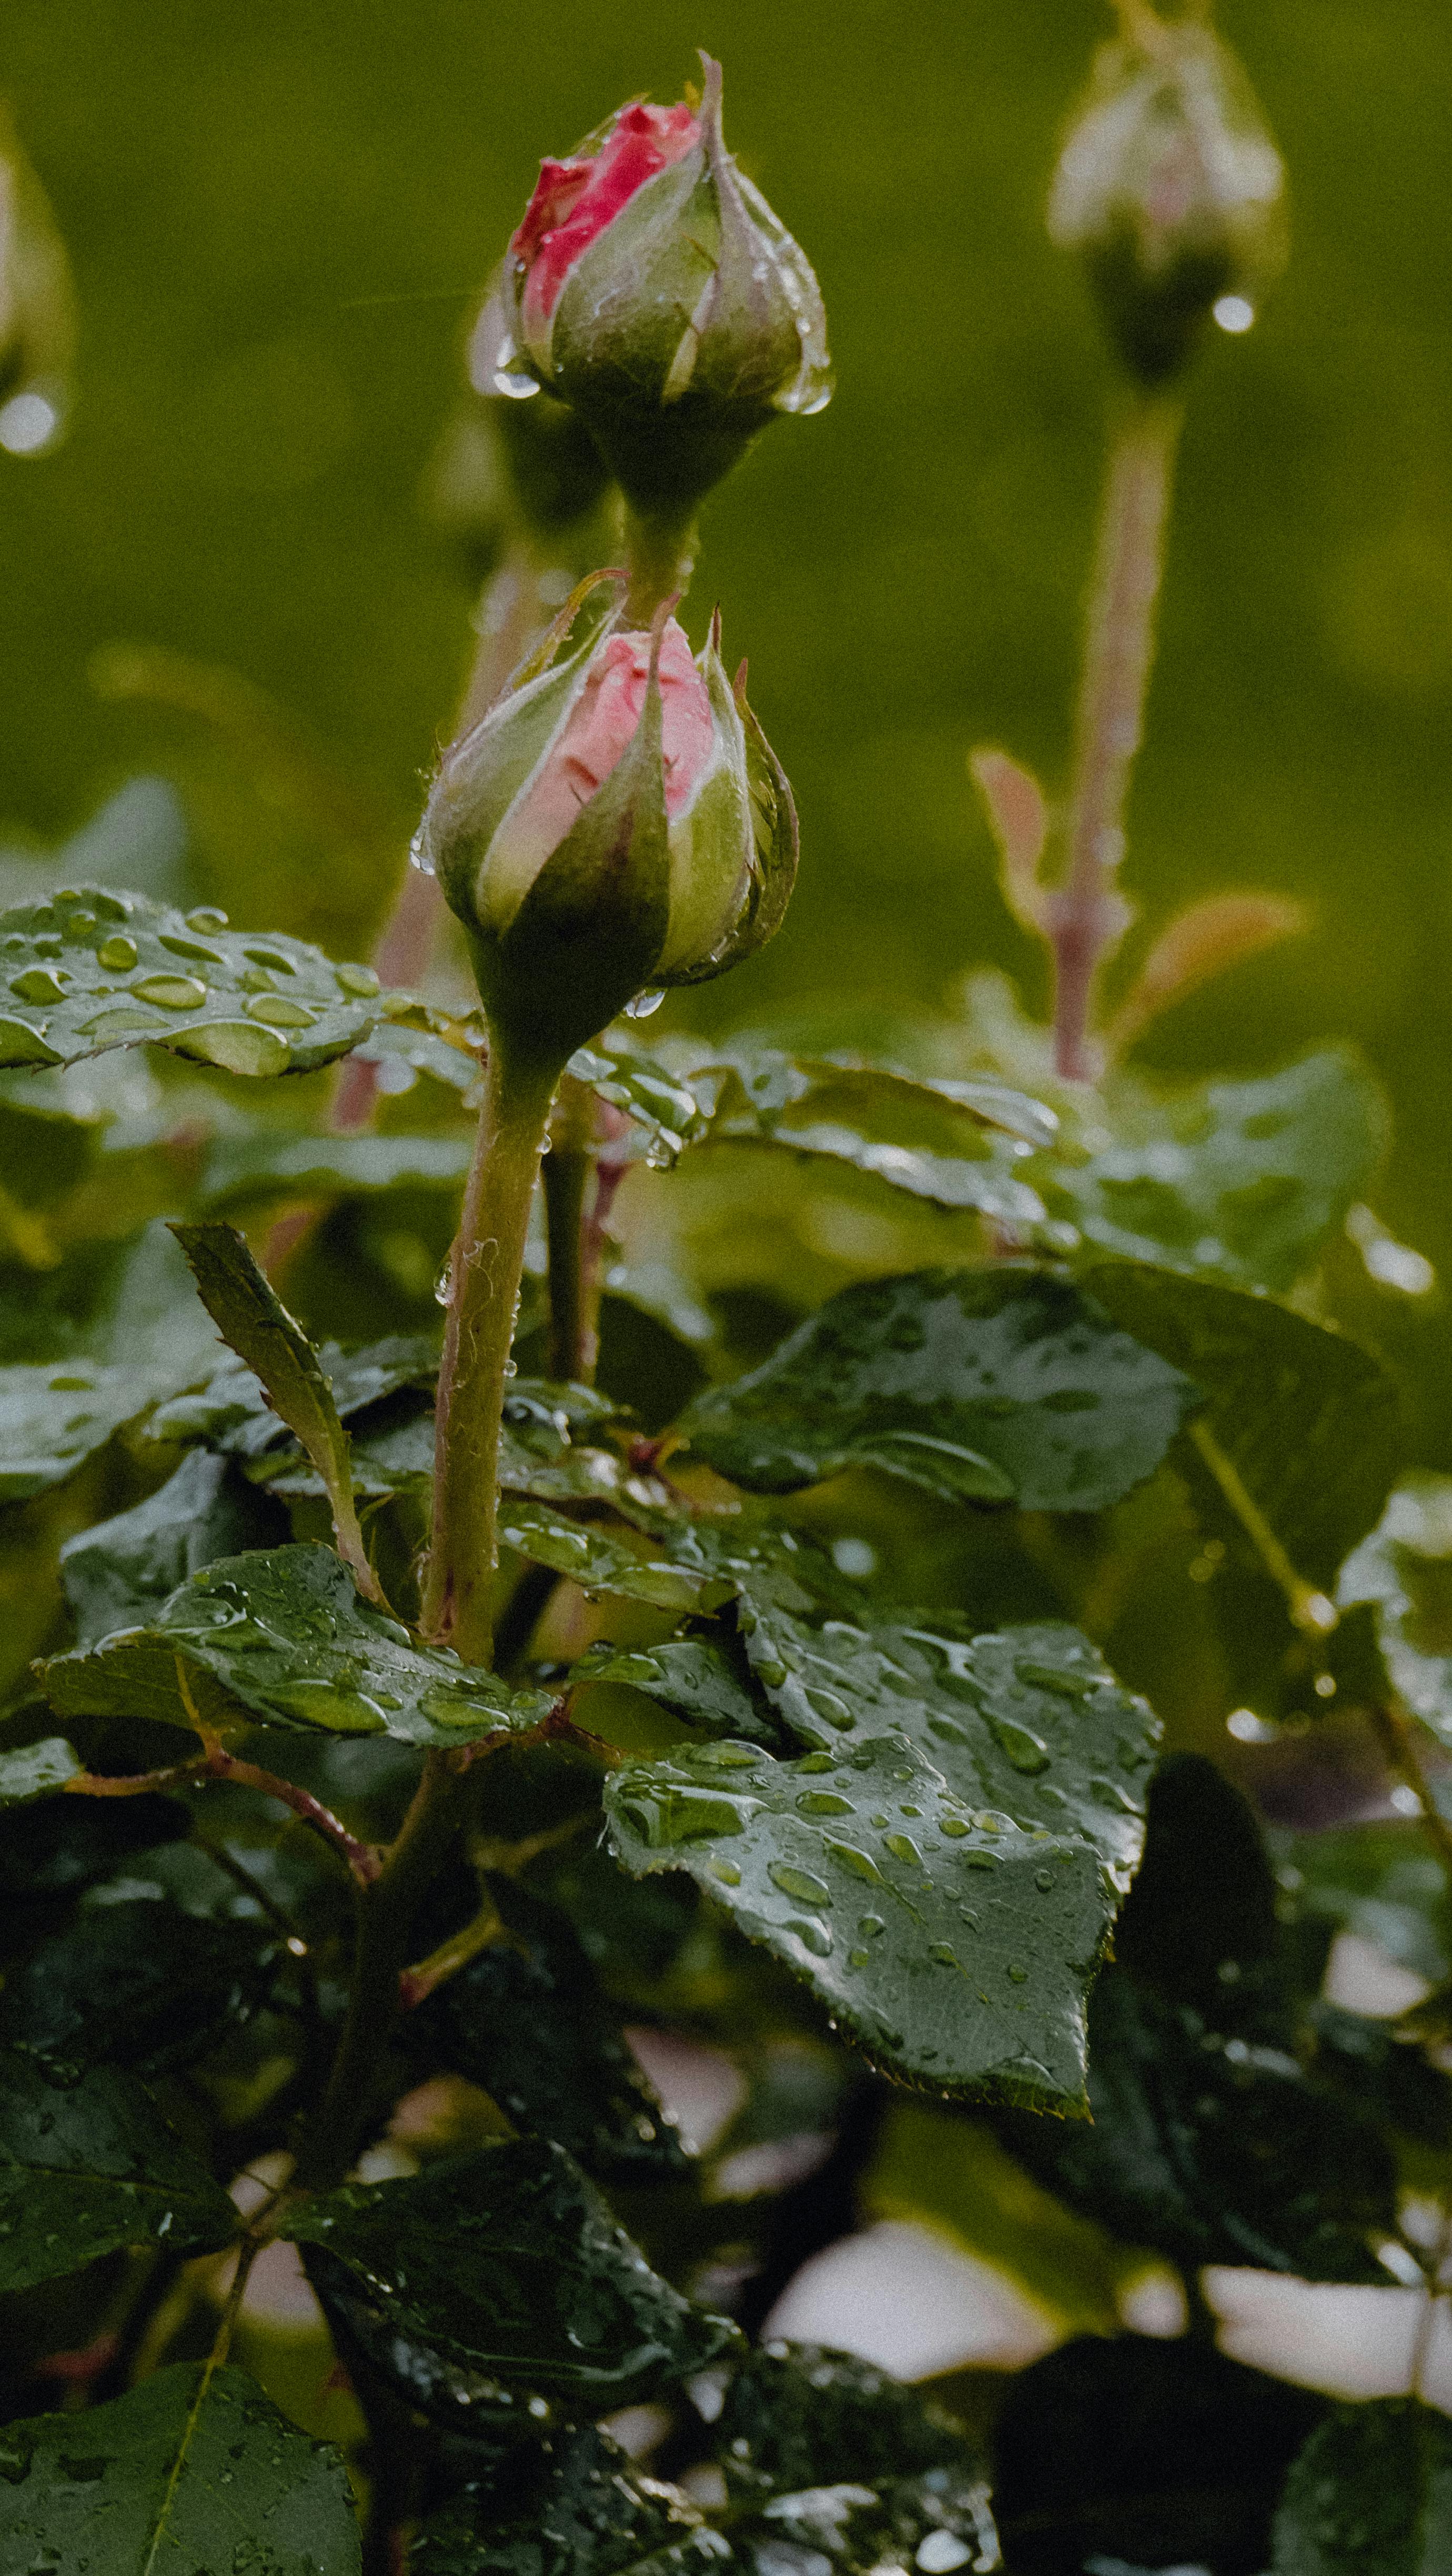
[[342, 2460], [245, 2370], [172, 2362], [88, 2414], [0, 2434], [0, 2571], [355, 2576]]

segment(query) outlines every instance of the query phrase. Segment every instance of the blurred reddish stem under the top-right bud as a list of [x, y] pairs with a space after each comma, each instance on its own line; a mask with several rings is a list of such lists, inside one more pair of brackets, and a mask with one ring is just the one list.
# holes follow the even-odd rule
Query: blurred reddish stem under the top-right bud
[[1182, 417], [1184, 404], [1171, 394], [1133, 394], [1104, 477], [1079, 690], [1068, 873], [1050, 930], [1053, 1043], [1066, 1082], [1094, 1077], [1094, 976], [1125, 927], [1115, 873], [1125, 855], [1125, 801], [1143, 734]]

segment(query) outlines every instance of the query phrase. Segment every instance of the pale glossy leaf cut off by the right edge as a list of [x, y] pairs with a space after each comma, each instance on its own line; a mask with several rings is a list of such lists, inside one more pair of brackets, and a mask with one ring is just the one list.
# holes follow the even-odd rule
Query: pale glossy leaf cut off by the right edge
[[1341, 1569], [1344, 1610], [1375, 1602], [1377, 1641], [1413, 1716], [1452, 1747], [1452, 1476], [1398, 1484], [1377, 1528]]

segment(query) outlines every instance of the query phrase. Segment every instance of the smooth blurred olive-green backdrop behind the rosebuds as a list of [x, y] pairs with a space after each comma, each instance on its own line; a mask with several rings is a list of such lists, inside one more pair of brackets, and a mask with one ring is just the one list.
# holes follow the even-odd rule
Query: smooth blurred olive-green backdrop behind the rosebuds
[[[1380, 1211], [1449, 1267], [1447, 15], [1220, 21], [1290, 162], [1295, 255], [1197, 379], [1128, 884], [1140, 938], [1220, 886], [1298, 894], [1316, 930], [1148, 1054], [1357, 1038], [1398, 1105]], [[1040, 1002], [963, 760], [999, 739], [1063, 778], [1107, 363], [1043, 198], [1104, 31], [1094, 0], [8, 0], [0, 90], [82, 358], [70, 440], [0, 456], [0, 837], [59, 840], [185, 757], [183, 719], [90, 680], [100, 647], [160, 644], [270, 690], [358, 788], [332, 871], [252, 866], [203, 796], [209, 894], [368, 938], [471, 644], [420, 507], [471, 299], [538, 155], [677, 95], [705, 44], [729, 139], [819, 268], [839, 392], [708, 513], [695, 623], [721, 598], [752, 659], [803, 878], [775, 948], [690, 1007], [940, 1005], [983, 958]], [[1437, 1363], [1439, 1314], [1401, 1332]]]

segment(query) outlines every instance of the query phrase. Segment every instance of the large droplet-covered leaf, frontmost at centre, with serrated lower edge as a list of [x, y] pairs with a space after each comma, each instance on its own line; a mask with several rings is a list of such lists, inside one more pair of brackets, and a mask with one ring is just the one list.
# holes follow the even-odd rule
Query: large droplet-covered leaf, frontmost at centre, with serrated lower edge
[[705, 1744], [605, 1783], [633, 1875], [690, 1870], [888, 2074], [1084, 2099], [1084, 1991], [1112, 1917], [1099, 1855], [947, 1788], [906, 1734], [772, 1762]]

